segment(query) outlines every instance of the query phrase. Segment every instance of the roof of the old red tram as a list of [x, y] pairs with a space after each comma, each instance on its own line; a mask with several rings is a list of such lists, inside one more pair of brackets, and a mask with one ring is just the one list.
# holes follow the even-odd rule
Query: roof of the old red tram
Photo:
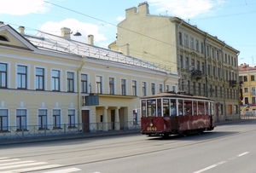
[[198, 96], [198, 95], [186, 95], [186, 94], [180, 94], [180, 93], [172, 93], [172, 92], [164, 92], [164, 93], [159, 93], [156, 95], [147, 95], [141, 97], [141, 99], [150, 99], [150, 98], [159, 98], [159, 97], [178, 97], [178, 98], [188, 98], [188, 99], [199, 99], [199, 100], [208, 100], [212, 101], [208, 97], [204, 96]]

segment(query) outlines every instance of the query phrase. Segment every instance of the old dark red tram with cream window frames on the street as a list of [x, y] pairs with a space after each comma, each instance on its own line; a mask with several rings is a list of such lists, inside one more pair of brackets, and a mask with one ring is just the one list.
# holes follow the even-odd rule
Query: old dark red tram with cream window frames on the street
[[148, 136], [187, 136], [215, 127], [215, 104], [207, 97], [173, 92], [144, 96], [141, 113], [141, 133]]

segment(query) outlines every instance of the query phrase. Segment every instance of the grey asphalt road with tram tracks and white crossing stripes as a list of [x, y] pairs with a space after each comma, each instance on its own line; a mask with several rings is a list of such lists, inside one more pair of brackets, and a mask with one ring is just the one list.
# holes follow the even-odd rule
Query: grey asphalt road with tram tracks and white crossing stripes
[[187, 137], [140, 134], [0, 146], [0, 173], [255, 173], [256, 121]]

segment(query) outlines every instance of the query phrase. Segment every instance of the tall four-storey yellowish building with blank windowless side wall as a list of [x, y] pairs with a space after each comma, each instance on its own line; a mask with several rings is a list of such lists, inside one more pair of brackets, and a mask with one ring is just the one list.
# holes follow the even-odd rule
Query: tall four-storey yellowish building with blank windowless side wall
[[238, 50], [182, 19], [149, 14], [147, 2], [126, 9], [117, 29], [109, 49], [177, 72], [178, 90], [210, 97], [217, 120], [240, 118]]

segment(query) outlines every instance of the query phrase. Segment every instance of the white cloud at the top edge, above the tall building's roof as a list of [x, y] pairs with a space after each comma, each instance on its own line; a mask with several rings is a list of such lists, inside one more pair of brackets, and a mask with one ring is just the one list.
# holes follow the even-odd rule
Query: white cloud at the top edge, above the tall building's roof
[[212, 14], [214, 9], [225, 0], [148, 0], [159, 13], [174, 15], [182, 19], [193, 18], [202, 14]]

